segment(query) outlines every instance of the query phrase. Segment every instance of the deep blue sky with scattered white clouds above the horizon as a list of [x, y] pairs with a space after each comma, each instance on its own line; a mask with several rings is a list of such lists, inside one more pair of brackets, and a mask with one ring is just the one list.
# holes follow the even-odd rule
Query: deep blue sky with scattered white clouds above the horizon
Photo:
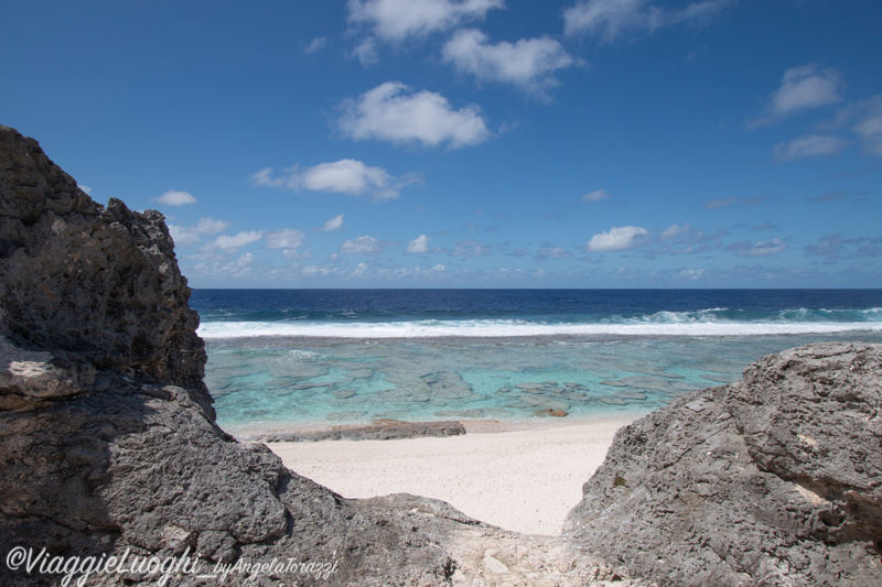
[[195, 287], [882, 286], [878, 0], [0, 15], [0, 123]]

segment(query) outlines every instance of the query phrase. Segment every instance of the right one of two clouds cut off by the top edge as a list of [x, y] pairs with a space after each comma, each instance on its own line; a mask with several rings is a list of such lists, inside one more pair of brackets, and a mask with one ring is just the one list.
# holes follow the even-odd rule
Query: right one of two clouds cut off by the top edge
[[563, 11], [566, 34], [588, 33], [610, 42], [630, 33], [654, 32], [675, 24], [707, 24], [735, 0], [703, 0], [680, 10], [649, 0], [582, 0]]

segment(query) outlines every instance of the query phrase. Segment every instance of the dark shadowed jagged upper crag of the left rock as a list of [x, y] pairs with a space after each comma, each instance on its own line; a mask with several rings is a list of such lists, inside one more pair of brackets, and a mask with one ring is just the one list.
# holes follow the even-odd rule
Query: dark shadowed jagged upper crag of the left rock
[[33, 139], [0, 127], [0, 334], [192, 392], [205, 349], [163, 217], [105, 208]]

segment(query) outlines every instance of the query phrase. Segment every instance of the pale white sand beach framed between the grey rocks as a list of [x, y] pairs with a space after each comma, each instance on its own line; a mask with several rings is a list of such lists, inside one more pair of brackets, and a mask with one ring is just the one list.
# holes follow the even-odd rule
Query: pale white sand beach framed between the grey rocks
[[462, 436], [267, 446], [290, 469], [347, 498], [413, 493], [507, 530], [558, 534], [615, 431], [632, 421], [464, 422]]

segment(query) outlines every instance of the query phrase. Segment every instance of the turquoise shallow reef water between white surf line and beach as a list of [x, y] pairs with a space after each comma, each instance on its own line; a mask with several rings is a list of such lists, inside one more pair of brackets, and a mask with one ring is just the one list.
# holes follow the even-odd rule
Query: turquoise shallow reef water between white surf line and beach
[[729, 383], [763, 355], [880, 333], [741, 337], [208, 340], [218, 423], [258, 430], [408, 421], [641, 415]]

